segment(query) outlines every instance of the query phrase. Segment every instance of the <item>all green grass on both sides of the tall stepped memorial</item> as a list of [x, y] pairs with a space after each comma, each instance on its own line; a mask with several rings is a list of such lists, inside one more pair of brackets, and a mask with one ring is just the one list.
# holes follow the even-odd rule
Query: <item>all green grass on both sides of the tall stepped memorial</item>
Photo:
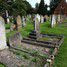
[[[20, 29], [22, 36], [25, 37], [29, 34], [31, 30], [33, 30], [32, 23], [27, 23], [25, 28]], [[55, 28], [50, 28], [50, 23], [47, 21], [46, 23], [41, 24], [40, 26], [41, 33], [45, 34], [56, 34], [56, 35], [64, 35], [64, 42], [61, 45], [58, 55], [55, 58], [54, 67], [67, 67], [67, 27], [62, 24], [61, 26], [56, 26]], [[12, 31], [7, 33], [7, 37], [13, 35], [17, 31]]]

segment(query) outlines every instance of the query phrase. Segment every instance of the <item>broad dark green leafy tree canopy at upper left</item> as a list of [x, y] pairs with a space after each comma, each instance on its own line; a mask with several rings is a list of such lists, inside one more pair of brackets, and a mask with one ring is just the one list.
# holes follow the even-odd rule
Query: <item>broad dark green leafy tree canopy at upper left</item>
[[0, 14], [7, 10], [10, 15], [26, 15], [30, 12], [31, 5], [26, 0], [0, 0]]

